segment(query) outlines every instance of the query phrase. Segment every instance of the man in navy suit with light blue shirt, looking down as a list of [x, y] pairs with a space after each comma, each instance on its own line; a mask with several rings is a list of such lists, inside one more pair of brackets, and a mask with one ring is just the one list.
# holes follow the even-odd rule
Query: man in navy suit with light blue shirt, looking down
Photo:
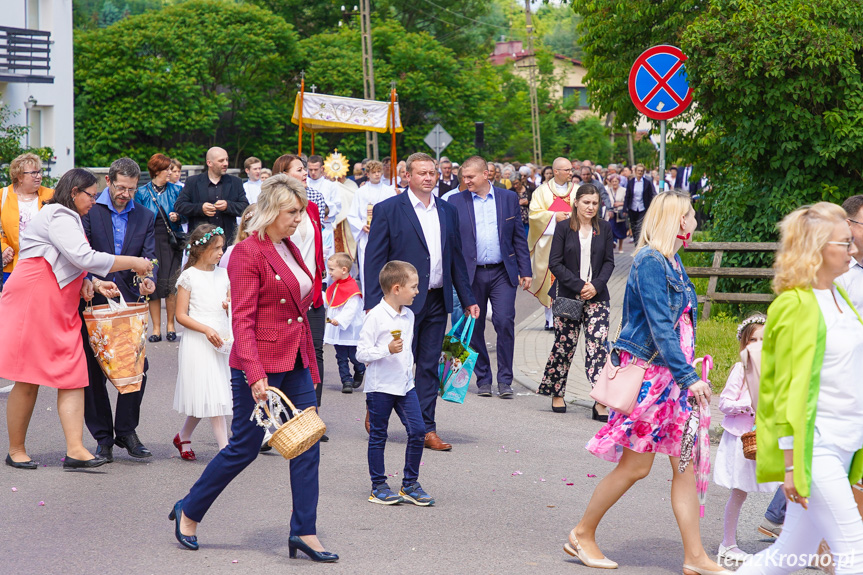
[[491, 363], [485, 344], [486, 302], [491, 300], [492, 325], [497, 333], [497, 390], [511, 399], [512, 356], [515, 351], [515, 294], [519, 283], [530, 288], [530, 250], [521, 222], [518, 195], [489, 184], [486, 161], [472, 156], [462, 164], [467, 190], [452, 196], [462, 237], [462, 254], [479, 319], [470, 346], [479, 353], [476, 384], [479, 395], [491, 397]]

